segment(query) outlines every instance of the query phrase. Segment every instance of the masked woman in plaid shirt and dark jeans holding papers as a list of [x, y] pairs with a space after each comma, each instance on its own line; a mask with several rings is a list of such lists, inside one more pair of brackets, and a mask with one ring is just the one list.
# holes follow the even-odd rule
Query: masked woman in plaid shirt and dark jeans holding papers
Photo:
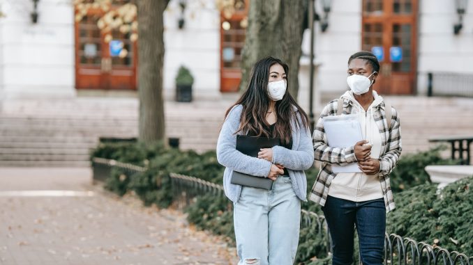
[[[386, 110], [373, 90], [379, 71], [380, 63], [372, 53], [350, 56], [350, 90], [325, 106], [313, 133], [315, 160], [322, 166], [309, 199], [322, 205], [333, 242], [333, 264], [353, 263], [354, 227], [363, 265], [382, 264], [386, 212], [395, 208], [389, 173], [402, 148], [398, 113], [390, 106]], [[358, 116], [365, 140], [347, 148], [329, 147], [323, 118], [346, 114]], [[358, 163], [361, 172], [332, 171], [331, 165], [348, 163]]]

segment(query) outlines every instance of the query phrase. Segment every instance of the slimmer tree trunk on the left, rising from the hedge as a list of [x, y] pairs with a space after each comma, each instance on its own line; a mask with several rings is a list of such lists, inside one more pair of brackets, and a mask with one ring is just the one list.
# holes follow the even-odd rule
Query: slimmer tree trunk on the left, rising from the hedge
[[140, 95], [139, 139], [146, 143], [165, 138], [163, 13], [168, 2], [169, 0], [136, 1], [138, 94]]

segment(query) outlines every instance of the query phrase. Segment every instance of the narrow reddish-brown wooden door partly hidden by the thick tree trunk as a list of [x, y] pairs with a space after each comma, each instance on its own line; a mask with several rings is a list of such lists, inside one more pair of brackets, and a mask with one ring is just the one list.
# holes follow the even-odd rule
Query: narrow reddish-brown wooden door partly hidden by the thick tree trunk
[[232, 15], [220, 15], [220, 91], [238, 92], [245, 44], [248, 1], [235, 1]]

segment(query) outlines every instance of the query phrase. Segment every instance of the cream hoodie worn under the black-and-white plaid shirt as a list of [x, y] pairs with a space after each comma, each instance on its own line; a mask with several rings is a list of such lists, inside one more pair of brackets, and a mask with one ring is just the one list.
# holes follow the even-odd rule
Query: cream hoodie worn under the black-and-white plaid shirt
[[[353, 102], [352, 114], [358, 114], [363, 139], [373, 144], [371, 158], [378, 159], [381, 152], [381, 134], [375, 122], [373, 108], [381, 104], [383, 99], [374, 90], [373, 97], [375, 97], [375, 101], [365, 111], [354, 99], [352, 91], [347, 91], [342, 95], [342, 98], [350, 99]], [[353, 202], [383, 198], [380, 179], [377, 175], [366, 175], [363, 172], [338, 173], [330, 184], [329, 195]]]

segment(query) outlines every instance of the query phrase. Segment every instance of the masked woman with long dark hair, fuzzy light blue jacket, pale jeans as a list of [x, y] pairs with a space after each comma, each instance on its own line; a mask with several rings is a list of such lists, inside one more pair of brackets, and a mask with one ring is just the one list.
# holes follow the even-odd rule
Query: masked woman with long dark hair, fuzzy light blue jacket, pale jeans
[[[301, 200], [314, 152], [306, 113], [287, 92], [288, 67], [277, 58], [258, 61], [248, 89], [228, 109], [217, 143], [225, 166], [225, 195], [234, 203], [239, 264], [290, 265], [299, 242]], [[257, 157], [239, 152], [237, 135], [278, 138]], [[273, 181], [271, 189], [232, 184], [232, 172]]]

